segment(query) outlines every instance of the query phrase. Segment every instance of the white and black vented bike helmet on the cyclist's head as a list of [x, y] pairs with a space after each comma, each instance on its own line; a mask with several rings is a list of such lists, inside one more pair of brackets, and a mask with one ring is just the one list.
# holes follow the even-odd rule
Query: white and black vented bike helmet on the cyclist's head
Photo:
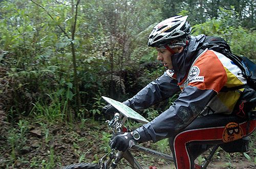
[[191, 33], [191, 26], [186, 21], [187, 17], [174, 16], [158, 23], [148, 36], [147, 46], [160, 48], [165, 45], [170, 48], [185, 46]]

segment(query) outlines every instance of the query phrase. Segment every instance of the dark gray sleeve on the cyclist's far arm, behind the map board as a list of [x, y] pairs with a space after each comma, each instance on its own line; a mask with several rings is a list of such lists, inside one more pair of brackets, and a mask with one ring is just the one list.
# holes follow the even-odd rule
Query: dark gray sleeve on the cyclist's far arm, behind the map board
[[171, 78], [166, 72], [155, 81], [150, 82], [134, 97], [123, 102], [133, 109], [150, 107], [166, 98], [172, 97], [180, 91], [177, 80]]

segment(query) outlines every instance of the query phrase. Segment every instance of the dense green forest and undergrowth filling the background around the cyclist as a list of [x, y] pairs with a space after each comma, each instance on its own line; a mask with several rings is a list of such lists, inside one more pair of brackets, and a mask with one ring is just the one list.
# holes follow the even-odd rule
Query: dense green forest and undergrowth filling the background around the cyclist
[[[255, 7], [253, 0], [0, 0], [0, 168], [60, 168], [109, 151], [101, 96], [125, 101], [163, 74], [147, 38], [166, 18], [188, 15], [193, 36], [222, 37], [255, 63]], [[175, 98], [140, 114], [152, 120]], [[253, 134], [249, 153], [219, 150], [216, 168], [255, 167]], [[170, 153], [166, 140], [153, 147]]]

